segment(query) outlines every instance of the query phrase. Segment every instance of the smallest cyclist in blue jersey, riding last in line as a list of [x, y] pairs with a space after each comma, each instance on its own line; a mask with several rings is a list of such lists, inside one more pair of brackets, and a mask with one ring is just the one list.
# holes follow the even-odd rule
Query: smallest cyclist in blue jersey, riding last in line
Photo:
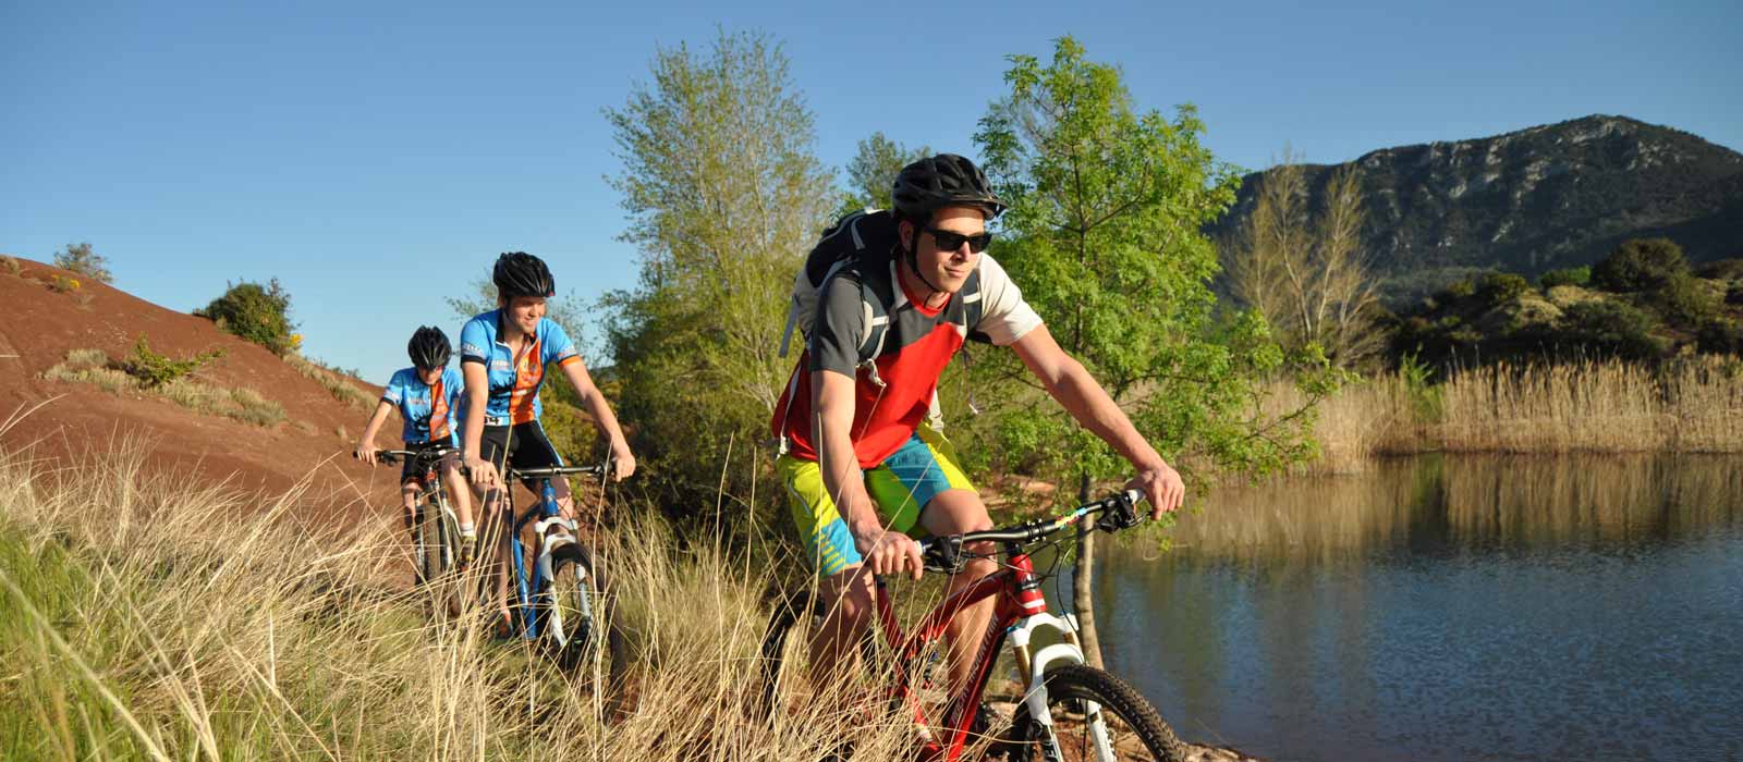
[[[376, 463], [375, 454], [378, 447], [375, 447], [375, 431], [382, 428], [387, 414], [396, 407], [399, 409], [399, 418], [404, 421], [401, 435], [408, 451], [458, 447], [460, 442], [455, 438], [455, 407], [460, 402], [462, 388], [460, 372], [448, 367], [451, 353], [453, 346], [448, 343], [448, 334], [434, 325], [420, 325], [411, 334], [411, 341], [406, 343], [406, 355], [411, 357], [411, 367], [396, 371], [387, 381], [382, 402], [375, 405], [375, 414], [370, 416], [370, 423], [363, 428], [363, 437], [357, 440], [357, 459], [371, 466]], [[443, 480], [448, 494], [453, 496], [455, 518], [460, 522], [460, 564], [464, 565], [472, 553], [478, 536], [472, 529], [472, 501], [457, 466], [458, 459], [453, 454], [443, 458], [437, 478]], [[406, 458], [404, 466], [399, 468], [399, 498], [406, 510], [404, 520], [408, 531], [417, 520], [418, 494], [429, 489], [436, 489], [436, 485], [424, 484], [424, 468], [420, 468], [415, 458]]]

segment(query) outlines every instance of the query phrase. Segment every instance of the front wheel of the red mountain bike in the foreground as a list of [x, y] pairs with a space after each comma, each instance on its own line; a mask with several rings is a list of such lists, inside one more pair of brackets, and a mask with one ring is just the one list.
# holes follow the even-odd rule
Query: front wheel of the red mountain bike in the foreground
[[[1042, 682], [1053, 732], [1030, 717], [1028, 703], [1020, 703], [1006, 741], [999, 745], [1007, 762], [1102, 759], [1100, 741], [1093, 734], [1096, 719], [1112, 736], [1112, 759], [1185, 760], [1185, 745], [1175, 731], [1124, 680], [1089, 665], [1063, 665], [1048, 670]], [[1088, 703], [1100, 705], [1098, 717], [1086, 717]], [[1049, 748], [1049, 739], [1058, 743], [1058, 755]]]

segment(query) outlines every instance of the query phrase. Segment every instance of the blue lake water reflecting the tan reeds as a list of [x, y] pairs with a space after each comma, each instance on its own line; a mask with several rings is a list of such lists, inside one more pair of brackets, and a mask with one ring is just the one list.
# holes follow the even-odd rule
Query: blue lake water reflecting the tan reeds
[[1738, 759], [1743, 459], [1426, 458], [1112, 548], [1109, 661], [1274, 759]]

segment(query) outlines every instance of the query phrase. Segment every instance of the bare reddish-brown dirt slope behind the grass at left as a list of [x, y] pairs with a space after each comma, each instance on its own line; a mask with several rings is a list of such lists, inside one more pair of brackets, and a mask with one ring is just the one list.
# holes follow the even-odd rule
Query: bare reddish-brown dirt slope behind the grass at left
[[[0, 435], [0, 449], [30, 447], [35, 458], [103, 452], [124, 437], [150, 445], [150, 463], [225, 480], [244, 491], [279, 492], [310, 480], [309, 498], [328, 505], [397, 503], [397, 466], [370, 468], [350, 459], [370, 411], [349, 407], [265, 348], [230, 336], [206, 318], [166, 310], [66, 270], [17, 259], [19, 273], [0, 268], [0, 423], [31, 411]], [[54, 292], [54, 277], [77, 278], [71, 292]], [[199, 371], [213, 386], [246, 386], [284, 405], [288, 421], [256, 426], [185, 409], [139, 393], [112, 395], [92, 384], [47, 381], [42, 372], [70, 350], [132, 353], [139, 334], [152, 350], [192, 357], [220, 348], [225, 357]], [[383, 346], [394, 346], [383, 341]], [[380, 386], [361, 384], [378, 393]], [[345, 437], [340, 437], [343, 426]], [[376, 445], [397, 447], [399, 424], [389, 423]], [[361, 499], [361, 503], [359, 503]], [[329, 503], [331, 501], [331, 503]], [[356, 508], [352, 508], [356, 510]]]

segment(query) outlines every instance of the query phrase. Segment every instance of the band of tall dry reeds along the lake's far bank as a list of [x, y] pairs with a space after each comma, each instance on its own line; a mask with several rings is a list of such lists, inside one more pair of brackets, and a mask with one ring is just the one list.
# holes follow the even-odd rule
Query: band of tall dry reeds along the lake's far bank
[[[1290, 404], [1299, 395], [1279, 384], [1271, 405]], [[1412, 452], [1743, 452], [1743, 362], [1495, 364], [1433, 386], [1387, 374], [1325, 400], [1314, 437], [1311, 473]]]

